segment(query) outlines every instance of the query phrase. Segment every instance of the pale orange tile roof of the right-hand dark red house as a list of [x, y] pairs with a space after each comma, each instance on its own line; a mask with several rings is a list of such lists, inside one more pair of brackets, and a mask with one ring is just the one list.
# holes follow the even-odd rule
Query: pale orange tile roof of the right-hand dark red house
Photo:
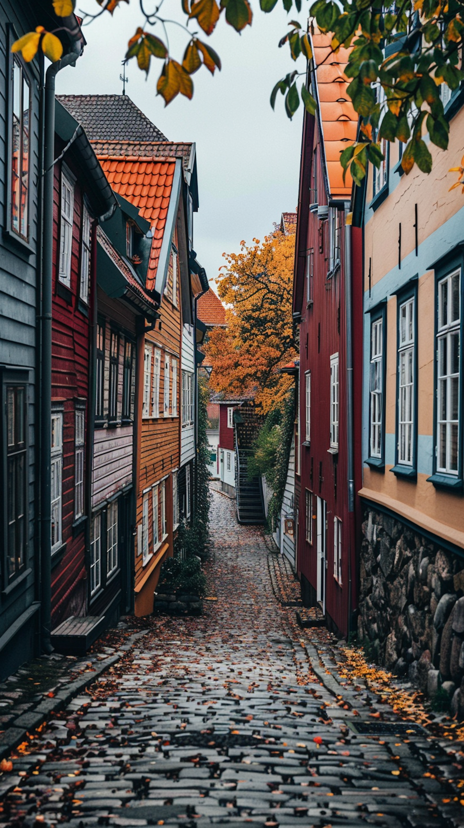
[[323, 35], [318, 30], [313, 32], [311, 39], [330, 195], [349, 197], [352, 192], [352, 177], [348, 172], [343, 183], [340, 164], [340, 153], [349, 142], [356, 140], [358, 123], [356, 112], [347, 95], [349, 80], [344, 74], [349, 50], [341, 48], [337, 55], [332, 54], [332, 35]]

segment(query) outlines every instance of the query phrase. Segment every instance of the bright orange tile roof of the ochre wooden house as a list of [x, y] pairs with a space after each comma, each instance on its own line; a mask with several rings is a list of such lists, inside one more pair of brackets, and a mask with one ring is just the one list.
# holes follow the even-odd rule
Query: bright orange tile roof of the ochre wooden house
[[155, 286], [156, 268], [170, 204], [175, 159], [154, 161], [152, 156], [98, 155], [98, 161], [112, 189], [130, 201], [151, 224], [153, 241], [146, 274], [146, 289], [152, 290]]

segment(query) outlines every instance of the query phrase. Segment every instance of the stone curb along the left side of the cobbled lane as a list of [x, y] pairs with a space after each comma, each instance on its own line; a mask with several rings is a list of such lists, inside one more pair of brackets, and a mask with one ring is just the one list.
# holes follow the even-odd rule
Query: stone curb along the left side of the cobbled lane
[[58, 692], [52, 699], [44, 695], [35, 710], [19, 715], [10, 727], [4, 730], [3, 733], [0, 733], [0, 759], [9, 756], [17, 748], [18, 744], [21, 744], [27, 739], [27, 734], [31, 730], [35, 730], [42, 722], [48, 721], [52, 713], [58, 713], [66, 705], [69, 705], [69, 701], [74, 696], [78, 696], [89, 684], [93, 684], [99, 676], [102, 676], [109, 667], [116, 664], [124, 652], [132, 646], [132, 643], [136, 642], [137, 638], [141, 638], [142, 635], [146, 635], [147, 632], [148, 630], [142, 630], [140, 633], [134, 633], [127, 639], [127, 643], [118, 650], [116, 655], [105, 658], [102, 662], [97, 662], [94, 665], [95, 669], [92, 675], [79, 676], [79, 678], [66, 685], [66, 688]]

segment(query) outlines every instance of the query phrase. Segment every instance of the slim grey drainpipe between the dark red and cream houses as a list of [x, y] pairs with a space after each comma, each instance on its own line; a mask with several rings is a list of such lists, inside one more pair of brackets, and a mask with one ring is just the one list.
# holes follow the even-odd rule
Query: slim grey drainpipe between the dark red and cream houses
[[350, 513], [348, 554], [348, 639], [352, 625], [352, 545], [355, 503], [353, 464], [353, 354], [352, 354], [352, 227], [345, 225], [345, 306], [347, 316], [347, 478], [348, 512]]

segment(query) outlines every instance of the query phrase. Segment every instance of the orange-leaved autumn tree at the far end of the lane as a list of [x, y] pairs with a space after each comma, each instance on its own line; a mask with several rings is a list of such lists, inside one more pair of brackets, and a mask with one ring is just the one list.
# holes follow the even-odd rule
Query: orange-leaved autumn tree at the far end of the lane
[[225, 258], [218, 293], [228, 306], [227, 329], [209, 335], [210, 386], [226, 397], [251, 396], [269, 412], [281, 405], [291, 385], [279, 369], [298, 354], [292, 321], [294, 233], [275, 230], [262, 243], [242, 242], [240, 253]]

